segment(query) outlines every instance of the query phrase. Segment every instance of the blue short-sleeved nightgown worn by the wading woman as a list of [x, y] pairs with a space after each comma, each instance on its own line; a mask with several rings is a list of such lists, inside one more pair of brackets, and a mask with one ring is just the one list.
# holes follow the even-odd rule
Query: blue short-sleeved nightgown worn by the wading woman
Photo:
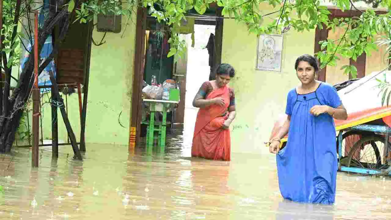
[[277, 154], [281, 195], [296, 202], [332, 204], [335, 200], [337, 151], [334, 119], [327, 113], [310, 114], [314, 105], [337, 108], [337, 90], [321, 83], [315, 92], [288, 93], [286, 114], [291, 115], [288, 142]]

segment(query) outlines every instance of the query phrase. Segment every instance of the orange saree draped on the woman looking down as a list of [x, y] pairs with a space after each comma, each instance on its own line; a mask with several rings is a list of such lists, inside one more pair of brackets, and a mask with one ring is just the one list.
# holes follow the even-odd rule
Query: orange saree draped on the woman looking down
[[[230, 130], [222, 128], [222, 124], [228, 118], [226, 112], [230, 104], [228, 86], [217, 88], [210, 92], [206, 99], [222, 97], [224, 106], [210, 105], [200, 108], [195, 121], [195, 129], [192, 145], [193, 157], [204, 157], [213, 160], [231, 159]], [[224, 116], [222, 116], [224, 115]]]

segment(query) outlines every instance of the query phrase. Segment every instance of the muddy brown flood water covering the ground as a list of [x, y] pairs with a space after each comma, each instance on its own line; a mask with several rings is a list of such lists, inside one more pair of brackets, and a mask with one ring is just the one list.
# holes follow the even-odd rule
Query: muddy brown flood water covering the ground
[[391, 180], [338, 173], [333, 206], [282, 199], [275, 157], [232, 153], [231, 162], [190, 157], [191, 135], [178, 130], [164, 153], [87, 144], [83, 162], [70, 146], [15, 148], [0, 158], [1, 219], [390, 219]]

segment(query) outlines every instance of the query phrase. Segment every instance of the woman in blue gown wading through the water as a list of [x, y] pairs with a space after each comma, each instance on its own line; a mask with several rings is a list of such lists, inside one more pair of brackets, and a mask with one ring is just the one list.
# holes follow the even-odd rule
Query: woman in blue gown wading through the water
[[[346, 119], [334, 87], [315, 80], [317, 59], [305, 54], [295, 63], [301, 82], [288, 93], [288, 115], [270, 141], [277, 154], [278, 183], [283, 198], [296, 202], [333, 204], [337, 176], [335, 119]], [[285, 148], [281, 138], [289, 133]]]

